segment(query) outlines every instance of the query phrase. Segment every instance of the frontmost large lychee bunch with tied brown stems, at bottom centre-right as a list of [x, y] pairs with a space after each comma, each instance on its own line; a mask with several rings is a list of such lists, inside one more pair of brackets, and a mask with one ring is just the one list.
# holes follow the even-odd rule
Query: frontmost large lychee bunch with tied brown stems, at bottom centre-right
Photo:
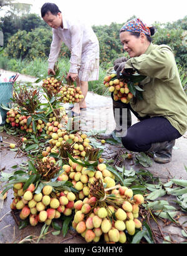
[[103, 236], [107, 243], [125, 243], [127, 233], [134, 235], [136, 228], [141, 228], [138, 212], [143, 196], [133, 195], [130, 188], [122, 186], [109, 192], [101, 185], [97, 180], [90, 187], [89, 197], [75, 202], [72, 227], [86, 242], [98, 242]]

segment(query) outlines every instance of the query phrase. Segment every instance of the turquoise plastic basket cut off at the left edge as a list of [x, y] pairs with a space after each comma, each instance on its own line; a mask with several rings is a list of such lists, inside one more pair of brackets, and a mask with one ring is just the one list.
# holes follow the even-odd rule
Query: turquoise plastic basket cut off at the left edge
[[9, 108], [9, 103], [11, 103], [12, 93], [13, 93], [12, 82], [0, 83], [0, 113], [1, 113], [0, 126], [4, 125], [6, 121], [6, 113], [7, 113], [7, 110], [4, 110], [1, 107], [1, 105], [4, 105], [7, 108]]

